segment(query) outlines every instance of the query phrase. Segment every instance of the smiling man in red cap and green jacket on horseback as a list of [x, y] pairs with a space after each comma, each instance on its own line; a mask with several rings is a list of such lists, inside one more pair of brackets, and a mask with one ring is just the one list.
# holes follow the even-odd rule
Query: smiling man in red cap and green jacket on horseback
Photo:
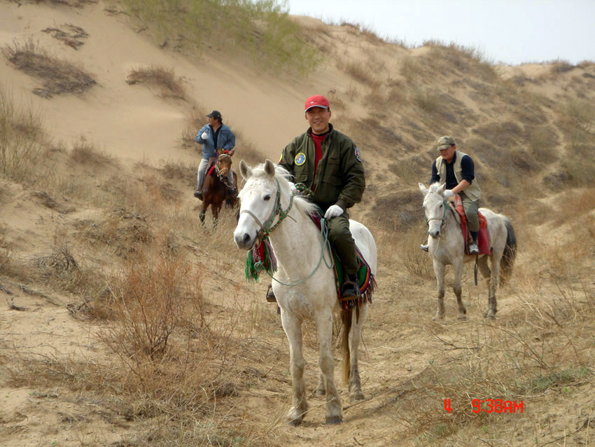
[[[304, 184], [314, 193], [311, 200], [321, 207], [328, 238], [343, 264], [341, 295], [356, 297], [358, 261], [347, 209], [360, 202], [365, 189], [360, 150], [329, 123], [330, 104], [322, 95], [306, 100], [304, 114], [310, 127], [283, 149], [279, 165], [293, 175], [296, 184]], [[275, 301], [270, 288], [267, 300]]]

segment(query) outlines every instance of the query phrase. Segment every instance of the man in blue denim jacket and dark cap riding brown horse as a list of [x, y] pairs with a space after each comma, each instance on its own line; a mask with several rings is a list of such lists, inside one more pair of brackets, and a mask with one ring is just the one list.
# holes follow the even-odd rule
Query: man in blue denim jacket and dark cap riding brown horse
[[[218, 110], [211, 111], [207, 118], [209, 123], [202, 126], [195, 138], [198, 144], [202, 144], [202, 160], [200, 160], [198, 166], [198, 187], [194, 193], [195, 198], [200, 200], [202, 200], [202, 183], [204, 182], [204, 172], [207, 170], [209, 158], [217, 156], [218, 149], [223, 149], [230, 156], [235, 152], [235, 135], [228, 126], [223, 124], [221, 112]], [[230, 187], [232, 195], [237, 195], [237, 189], [233, 186], [234, 178], [231, 168], [228, 181], [228, 187]]]

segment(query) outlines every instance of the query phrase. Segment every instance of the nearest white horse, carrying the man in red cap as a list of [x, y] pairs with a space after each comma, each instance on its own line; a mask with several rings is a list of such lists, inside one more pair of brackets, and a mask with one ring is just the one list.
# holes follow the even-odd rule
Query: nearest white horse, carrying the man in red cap
[[[293, 406], [287, 415], [288, 422], [299, 425], [307, 411], [302, 322], [304, 319], [314, 319], [318, 326], [318, 365], [321, 369], [316, 394], [326, 396], [326, 423], [340, 423], [342, 407], [335, 387], [331, 344], [333, 312], [341, 306], [334, 273], [328, 267], [332, 266], [330, 253], [321, 238], [321, 231], [310, 218], [311, 214], [316, 213], [316, 205], [297, 195], [295, 187], [287, 180], [288, 172], [282, 167], [275, 167], [270, 160], [253, 169], [242, 160], [239, 172], [246, 184], [239, 193], [241, 207], [234, 231], [235, 243], [241, 249], [251, 249], [260, 242], [264, 233], [268, 235], [278, 262], [273, 291], [281, 309], [283, 330], [289, 341], [293, 380]], [[349, 228], [375, 275], [377, 253], [372, 234], [356, 221], [349, 221]], [[351, 401], [363, 399], [358, 371], [358, 345], [366, 315], [367, 304], [361, 305], [358, 312], [342, 310], [343, 379], [349, 384]]]

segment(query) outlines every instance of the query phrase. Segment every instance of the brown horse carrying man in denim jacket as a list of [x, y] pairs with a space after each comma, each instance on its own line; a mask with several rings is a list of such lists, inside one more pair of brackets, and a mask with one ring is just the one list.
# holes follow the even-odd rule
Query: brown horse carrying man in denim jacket
[[[200, 221], [204, 224], [204, 214], [209, 205], [215, 219], [215, 224], [219, 219], [219, 212], [225, 201], [228, 207], [237, 209], [237, 197], [232, 197], [228, 191], [228, 172], [232, 166], [232, 158], [227, 153], [222, 153], [217, 158], [213, 158], [207, 165], [207, 174], [204, 176], [202, 184], [202, 209], [200, 211]], [[237, 188], [237, 174], [234, 172], [234, 186]], [[236, 211], [236, 220], [239, 212]]]

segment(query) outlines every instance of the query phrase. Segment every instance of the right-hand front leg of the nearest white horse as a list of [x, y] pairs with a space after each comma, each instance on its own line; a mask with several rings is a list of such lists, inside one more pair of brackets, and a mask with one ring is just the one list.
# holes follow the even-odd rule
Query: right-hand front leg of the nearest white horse
[[341, 413], [341, 397], [335, 386], [335, 362], [332, 359], [332, 312], [325, 312], [316, 318], [318, 325], [318, 343], [320, 355], [318, 365], [324, 376], [326, 388], [326, 423], [340, 424], [343, 421]]

